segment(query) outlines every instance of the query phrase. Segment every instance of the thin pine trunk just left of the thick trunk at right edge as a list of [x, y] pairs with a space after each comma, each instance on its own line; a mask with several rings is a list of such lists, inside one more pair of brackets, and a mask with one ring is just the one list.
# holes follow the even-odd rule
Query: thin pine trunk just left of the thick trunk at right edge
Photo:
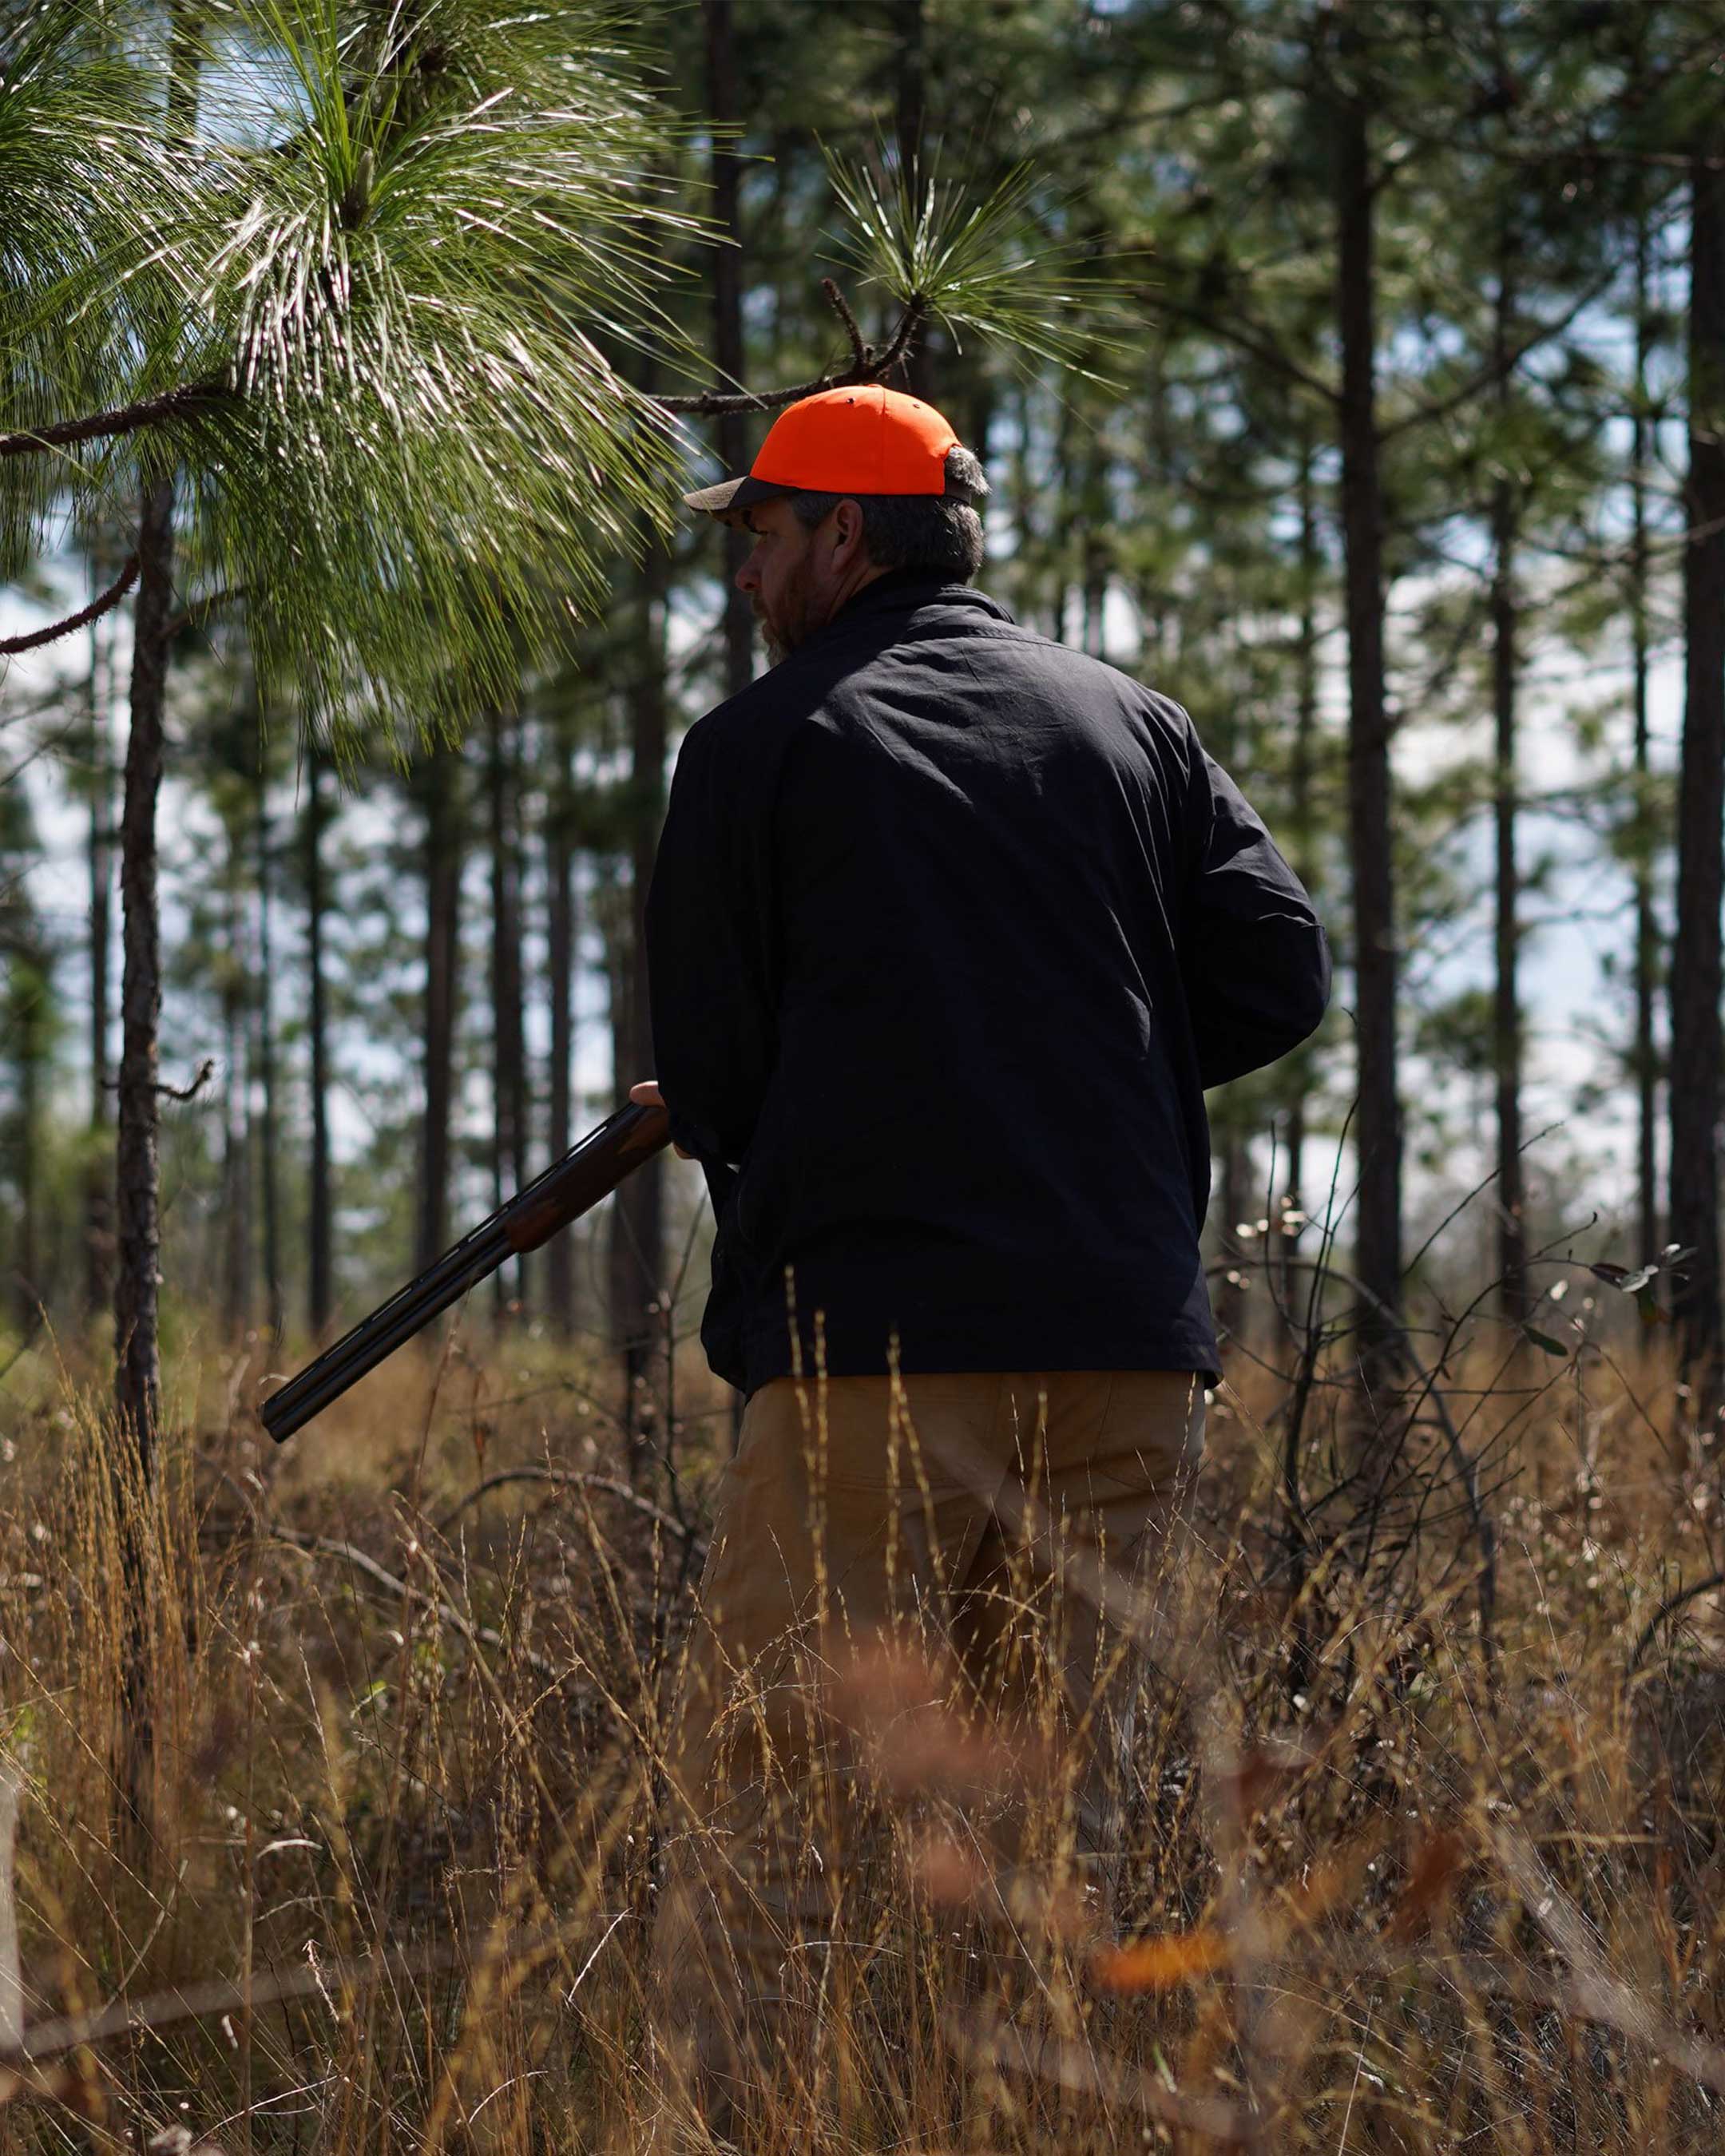
[[1637, 1255], [1652, 1266], [1660, 1250], [1658, 1231], [1658, 1046], [1654, 1005], [1658, 998], [1658, 914], [1654, 912], [1654, 817], [1652, 817], [1652, 731], [1647, 724], [1647, 679], [1652, 645], [1647, 634], [1647, 220], [1634, 233], [1634, 442], [1630, 451], [1630, 664], [1634, 701], [1634, 1190]]

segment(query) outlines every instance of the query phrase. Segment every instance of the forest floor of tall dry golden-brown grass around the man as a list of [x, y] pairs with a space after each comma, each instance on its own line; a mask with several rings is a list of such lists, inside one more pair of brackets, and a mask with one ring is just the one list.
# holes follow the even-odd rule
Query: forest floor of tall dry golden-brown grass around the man
[[[0, 1395], [0, 2152], [701, 2145], [647, 1932], [727, 1401], [679, 1369], [677, 1475], [632, 1488], [608, 1380], [537, 1343], [401, 1356], [285, 1453], [259, 1369], [209, 1358], [149, 1498], [78, 1373]], [[1151, 1643], [1128, 1945], [979, 1876], [888, 1740], [748, 2145], [1723, 2147], [1725, 1604], [1665, 1611], [1725, 1565], [1721, 1473], [1669, 1373], [1451, 1371], [1346, 1537], [1341, 1388], [1292, 1533], [1292, 1399], [1231, 1380]]]

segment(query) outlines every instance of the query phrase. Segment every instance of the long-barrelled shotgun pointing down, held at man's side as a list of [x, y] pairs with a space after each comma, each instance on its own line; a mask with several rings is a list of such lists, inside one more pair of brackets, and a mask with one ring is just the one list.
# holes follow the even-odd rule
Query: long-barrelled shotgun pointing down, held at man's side
[[625, 1175], [632, 1175], [653, 1153], [664, 1151], [668, 1143], [671, 1123], [664, 1108], [632, 1102], [606, 1117], [563, 1160], [552, 1162], [507, 1205], [498, 1205], [492, 1218], [481, 1220], [453, 1250], [444, 1250], [436, 1266], [427, 1266], [418, 1279], [408, 1281], [388, 1302], [382, 1302], [371, 1317], [362, 1317], [351, 1332], [343, 1332], [334, 1348], [326, 1348], [315, 1363], [306, 1363], [280, 1393], [272, 1393], [261, 1408], [263, 1427], [276, 1445], [291, 1438], [313, 1414], [321, 1414], [332, 1399], [341, 1399], [349, 1384], [358, 1384], [369, 1369], [375, 1369], [384, 1356], [395, 1354], [403, 1341], [429, 1326], [451, 1302], [459, 1302], [470, 1287], [511, 1257], [537, 1250], [558, 1229], [580, 1220], [599, 1199], [610, 1197]]

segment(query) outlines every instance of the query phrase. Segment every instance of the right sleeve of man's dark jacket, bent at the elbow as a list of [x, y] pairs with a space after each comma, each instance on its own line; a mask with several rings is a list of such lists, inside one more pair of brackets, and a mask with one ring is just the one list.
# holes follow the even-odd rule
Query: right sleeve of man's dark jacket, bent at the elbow
[[1179, 970], [1205, 1087], [1317, 1031], [1330, 951], [1311, 899], [1227, 772], [1192, 740]]

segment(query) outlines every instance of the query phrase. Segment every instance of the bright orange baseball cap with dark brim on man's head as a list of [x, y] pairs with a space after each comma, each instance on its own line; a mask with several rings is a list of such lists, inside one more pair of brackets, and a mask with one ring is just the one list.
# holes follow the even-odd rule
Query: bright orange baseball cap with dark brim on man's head
[[957, 436], [921, 397], [862, 382], [785, 405], [742, 479], [686, 494], [722, 517], [774, 494], [944, 494]]

